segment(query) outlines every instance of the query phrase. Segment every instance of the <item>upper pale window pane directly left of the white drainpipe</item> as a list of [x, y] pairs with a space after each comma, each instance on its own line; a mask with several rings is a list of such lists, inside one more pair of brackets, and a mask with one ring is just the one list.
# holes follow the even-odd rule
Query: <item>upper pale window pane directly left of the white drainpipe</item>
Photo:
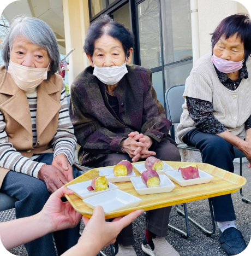
[[160, 0], [164, 64], [193, 56], [190, 0]]

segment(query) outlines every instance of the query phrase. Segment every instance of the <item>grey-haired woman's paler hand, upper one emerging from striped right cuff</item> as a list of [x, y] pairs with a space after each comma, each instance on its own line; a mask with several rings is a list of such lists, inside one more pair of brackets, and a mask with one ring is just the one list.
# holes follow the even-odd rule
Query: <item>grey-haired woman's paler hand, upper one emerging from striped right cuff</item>
[[64, 173], [64, 176], [67, 177], [68, 182], [73, 180], [73, 167], [71, 167], [67, 157], [64, 154], [56, 155], [51, 165], [55, 166], [58, 168], [58, 170]]

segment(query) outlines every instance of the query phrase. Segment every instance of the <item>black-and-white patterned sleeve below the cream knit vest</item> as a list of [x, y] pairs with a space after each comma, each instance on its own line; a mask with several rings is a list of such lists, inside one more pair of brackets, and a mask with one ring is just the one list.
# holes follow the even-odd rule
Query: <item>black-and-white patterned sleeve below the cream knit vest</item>
[[227, 129], [213, 115], [213, 103], [199, 98], [186, 97], [187, 110], [195, 127], [202, 132], [216, 134]]

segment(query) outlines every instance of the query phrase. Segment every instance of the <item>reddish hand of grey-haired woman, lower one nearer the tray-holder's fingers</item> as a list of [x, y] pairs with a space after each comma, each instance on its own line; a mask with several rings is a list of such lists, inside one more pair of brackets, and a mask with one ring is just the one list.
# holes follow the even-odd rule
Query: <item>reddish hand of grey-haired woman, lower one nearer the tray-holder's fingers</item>
[[50, 193], [55, 192], [68, 183], [65, 174], [53, 165], [43, 165], [38, 172], [38, 178], [45, 182]]

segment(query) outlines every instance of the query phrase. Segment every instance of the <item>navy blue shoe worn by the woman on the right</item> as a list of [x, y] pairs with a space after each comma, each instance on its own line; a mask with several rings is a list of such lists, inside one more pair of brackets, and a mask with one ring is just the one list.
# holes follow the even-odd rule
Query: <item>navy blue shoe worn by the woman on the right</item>
[[247, 248], [241, 231], [236, 228], [228, 228], [224, 232], [219, 230], [219, 243], [229, 256], [238, 255]]

